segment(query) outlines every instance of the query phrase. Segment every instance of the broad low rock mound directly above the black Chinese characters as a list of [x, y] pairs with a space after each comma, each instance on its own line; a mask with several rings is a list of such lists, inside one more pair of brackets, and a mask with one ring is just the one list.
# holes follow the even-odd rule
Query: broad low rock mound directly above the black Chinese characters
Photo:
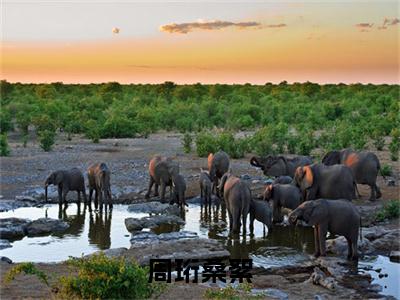
[[225, 259], [229, 251], [222, 243], [213, 239], [178, 239], [159, 241], [154, 244], [132, 245], [127, 251], [127, 256], [135, 258], [142, 266], [148, 266], [151, 258], [160, 259]]

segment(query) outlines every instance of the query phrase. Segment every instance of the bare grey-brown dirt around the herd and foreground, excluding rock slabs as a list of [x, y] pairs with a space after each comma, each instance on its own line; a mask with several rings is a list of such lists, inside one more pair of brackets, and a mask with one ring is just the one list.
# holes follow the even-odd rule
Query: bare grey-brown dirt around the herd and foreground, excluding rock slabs
[[[1, 158], [0, 201], [14, 199], [22, 194], [29, 196], [30, 190], [43, 186], [44, 180], [51, 171], [72, 167], [79, 167], [85, 171], [92, 163], [106, 162], [112, 170], [112, 185], [122, 191], [120, 200], [136, 202], [138, 199], [143, 199], [143, 194], [147, 189], [148, 161], [155, 154], [174, 157], [179, 162], [181, 173], [187, 180], [187, 197], [189, 198], [199, 194], [197, 175], [201, 167], [207, 167], [206, 158], [199, 158], [194, 151], [190, 154], [183, 152], [180, 134], [153, 134], [147, 139], [108, 139], [101, 140], [99, 144], [93, 144], [81, 137], [73, 137], [72, 141], [68, 141], [65, 136], [61, 136], [51, 152], [43, 152], [32, 140], [24, 148], [17, 136], [11, 136], [9, 142], [12, 154], [10, 157]], [[369, 188], [367, 186], [359, 186], [362, 199], [357, 200], [356, 204], [371, 215], [386, 201], [399, 198], [399, 164], [390, 161], [387, 150], [375, 153], [382, 165], [389, 164], [392, 167], [395, 186], [388, 186], [383, 177], [379, 176], [378, 185], [381, 187], [383, 197], [376, 202], [368, 201]], [[248, 174], [252, 178], [255, 196], [260, 196], [263, 190], [262, 180], [265, 177], [260, 170], [250, 166], [249, 160], [250, 155], [243, 159], [232, 160], [231, 167], [236, 175]], [[0, 264], [0, 274], [4, 278], [5, 272], [11, 265], [3, 262]], [[64, 264], [38, 264], [38, 266], [46, 273], [53, 274], [53, 278], [68, 273]], [[328, 299], [333, 297], [321, 287], [312, 284], [304, 285], [299, 280], [302, 276], [309, 276], [309, 273], [260, 274], [255, 280], [255, 287], [279, 289], [291, 283], [292, 288], [289, 293], [291, 299], [304, 299], [307, 296], [313, 298], [316, 294]], [[174, 285], [168, 288], [160, 299], [199, 299], [206, 288], [202, 285]], [[296, 293], [299, 289], [300, 294]], [[350, 296], [348, 293], [351, 291], [343, 289], [340, 296], [347, 298]], [[1, 285], [2, 299], [49, 299], [56, 296], [51, 288], [33, 276], [19, 276], [9, 285]], [[360, 295], [354, 296], [360, 298]], [[338, 294], [335, 297], [338, 297]]]

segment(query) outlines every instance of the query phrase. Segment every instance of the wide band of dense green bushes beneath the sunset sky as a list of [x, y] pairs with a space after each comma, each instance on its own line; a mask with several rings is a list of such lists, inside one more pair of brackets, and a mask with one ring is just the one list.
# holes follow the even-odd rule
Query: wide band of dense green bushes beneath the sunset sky
[[[51, 149], [55, 132], [100, 138], [147, 136], [161, 129], [200, 132], [199, 155], [230, 144], [233, 155], [302, 153], [389, 146], [392, 159], [400, 148], [398, 85], [157, 85], [11, 84], [1, 82], [1, 133], [34, 126], [39, 142]], [[220, 138], [209, 133], [224, 129]], [[258, 130], [252, 139], [234, 139], [239, 130]], [[227, 132], [228, 131], [228, 132]], [[385, 136], [392, 136], [385, 145]], [[209, 138], [222, 139], [208, 146]], [[190, 146], [186, 135], [186, 146]], [[206, 149], [204, 149], [206, 148]], [[189, 148], [186, 147], [186, 150]], [[228, 151], [229, 152], [229, 151]], [[232, 151], [231, 151], [232, 152]]]

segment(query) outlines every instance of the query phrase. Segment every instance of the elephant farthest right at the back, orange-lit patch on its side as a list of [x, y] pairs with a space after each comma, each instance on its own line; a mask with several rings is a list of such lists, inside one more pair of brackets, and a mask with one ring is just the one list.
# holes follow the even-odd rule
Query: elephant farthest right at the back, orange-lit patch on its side
[[322, 163], [331, 166], [342, 164], [351, 169], [356, 183], [367, 184], [371, 188], [369, 200], [375, 201], [382, 193], [376, 184], [376, 177], [381, 169], [378, 157], [368, 151], [353, 151], [344, 149], [341, 151], [330, 151], [322, 159]]

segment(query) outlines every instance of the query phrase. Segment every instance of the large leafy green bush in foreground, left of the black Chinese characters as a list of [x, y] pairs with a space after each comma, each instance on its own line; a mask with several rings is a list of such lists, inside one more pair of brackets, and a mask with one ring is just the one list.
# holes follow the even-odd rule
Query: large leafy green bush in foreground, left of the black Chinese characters
[[67, 263], [78, 275], [60, 278], [61, 293], [68, 298], [144, 299], [155, 291], [148, 283], [148, 269], [124, 258], [108, 258], [103, 253], [89, 258], [71, 258]]

